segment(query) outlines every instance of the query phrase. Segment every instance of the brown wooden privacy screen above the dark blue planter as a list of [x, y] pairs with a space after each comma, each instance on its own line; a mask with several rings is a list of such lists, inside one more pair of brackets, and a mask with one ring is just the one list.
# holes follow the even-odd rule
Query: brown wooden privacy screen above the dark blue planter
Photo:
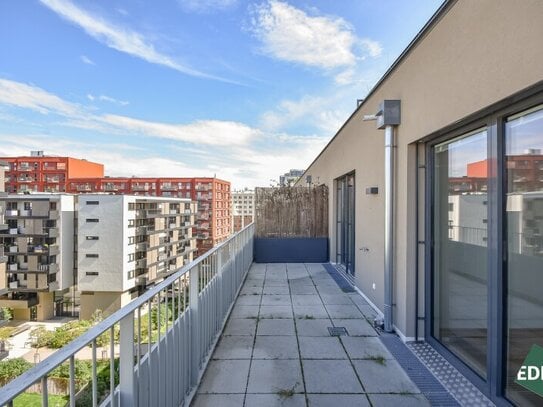
[[255, 190], [255, 237], [328, 237], [328, 187]]

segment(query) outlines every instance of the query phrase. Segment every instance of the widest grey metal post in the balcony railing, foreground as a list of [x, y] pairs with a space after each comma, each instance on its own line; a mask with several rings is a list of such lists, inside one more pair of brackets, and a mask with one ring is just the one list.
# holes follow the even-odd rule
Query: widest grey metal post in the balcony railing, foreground
[[120, 321], [120, 405], [135, 405], [134, 398], [134, 313], [129, 313]]

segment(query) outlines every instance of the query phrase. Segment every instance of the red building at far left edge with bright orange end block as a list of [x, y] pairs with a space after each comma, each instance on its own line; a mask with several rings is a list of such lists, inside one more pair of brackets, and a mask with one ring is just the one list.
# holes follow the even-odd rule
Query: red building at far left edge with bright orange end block
[[103, 177], [104, 166], [72, 157], [44, 155], [33, 151], [24, 157], [2, 157], [8, 163], [2, 185], [8, 193], [67, 192], [70, 179]]

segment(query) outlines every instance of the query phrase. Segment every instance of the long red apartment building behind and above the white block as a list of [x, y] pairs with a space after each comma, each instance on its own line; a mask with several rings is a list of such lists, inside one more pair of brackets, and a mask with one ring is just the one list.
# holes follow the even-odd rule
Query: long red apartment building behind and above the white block
[[230, 183], [218, 178], [82, 178], [70, 180], [73, 193], [109, 193], [192, 199], [196, 214], [197, 255], [224, 241], [231, 232]]

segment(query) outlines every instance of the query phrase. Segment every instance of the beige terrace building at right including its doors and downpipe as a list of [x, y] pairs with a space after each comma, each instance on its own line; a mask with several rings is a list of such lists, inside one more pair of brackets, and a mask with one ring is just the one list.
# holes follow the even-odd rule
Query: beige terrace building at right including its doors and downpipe
[[543, 347], [541, 21], [446, 1], [298, 181], [328, 186], [330, 260], [385, 329], [497, 405], [542, 401], [517, 380]]

